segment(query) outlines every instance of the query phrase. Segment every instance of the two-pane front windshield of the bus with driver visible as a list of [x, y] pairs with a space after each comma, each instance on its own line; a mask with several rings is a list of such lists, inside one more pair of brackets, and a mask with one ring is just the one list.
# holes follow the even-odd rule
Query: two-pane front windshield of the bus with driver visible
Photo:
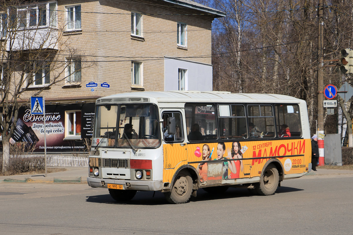
[[158, 113], [154, 105], [101, 105], [96, 109], [94, 145], [100, 142], [100, 146], [118, 148], [160, 145]]

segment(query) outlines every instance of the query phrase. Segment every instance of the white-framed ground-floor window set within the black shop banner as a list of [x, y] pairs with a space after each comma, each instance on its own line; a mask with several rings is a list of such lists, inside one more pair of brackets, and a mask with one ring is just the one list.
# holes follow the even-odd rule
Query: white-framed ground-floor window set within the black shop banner
[[81, 111], [65, 111], [65, 137], [81, 136]]

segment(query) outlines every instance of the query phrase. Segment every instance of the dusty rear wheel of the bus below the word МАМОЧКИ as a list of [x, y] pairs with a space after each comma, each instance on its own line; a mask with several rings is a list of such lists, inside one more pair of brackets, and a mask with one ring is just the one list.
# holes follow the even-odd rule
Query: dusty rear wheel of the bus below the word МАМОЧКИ
[[275, 193], [279, 183], [278, 170], [273, 164], [269, 164], [261, 176], [260, 182], [256, 184], [256, 192], [263, 196]]

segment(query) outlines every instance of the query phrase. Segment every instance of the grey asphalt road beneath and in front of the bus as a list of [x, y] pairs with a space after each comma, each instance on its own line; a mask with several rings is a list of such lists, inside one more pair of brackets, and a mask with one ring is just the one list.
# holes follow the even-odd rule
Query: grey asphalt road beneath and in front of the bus
[[272, 196], [231, 188], [167, 204], [138, 192], [116, 203], [85, 184], [1, 183], [0, 234], [353, 234], [353, 176], [285, 180]]

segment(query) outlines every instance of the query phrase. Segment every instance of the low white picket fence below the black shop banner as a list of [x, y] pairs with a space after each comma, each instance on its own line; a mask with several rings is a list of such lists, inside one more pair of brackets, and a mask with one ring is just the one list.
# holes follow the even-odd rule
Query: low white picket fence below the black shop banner
[[[44, 154], [26, 154], [21, 157], [44, 157]], [[47, 155], [47, 166], [88, 167], [88, 156]]]

